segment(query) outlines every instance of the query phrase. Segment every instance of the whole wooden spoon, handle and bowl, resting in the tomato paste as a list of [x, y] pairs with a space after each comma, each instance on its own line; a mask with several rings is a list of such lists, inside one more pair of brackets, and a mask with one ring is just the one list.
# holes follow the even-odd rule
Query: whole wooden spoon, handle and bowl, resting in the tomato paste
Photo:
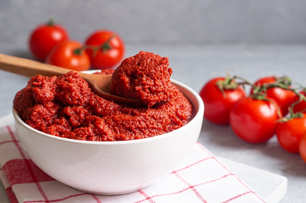
[[[27, 77], [34, 77], [38, 74], [48, 77], [61, 76], [71, 71], [70, 69], [5, 54], [0, 54], [0, 70]], [[95, 94], [106, 100], [122, 104], [147, 106], [147, 104], [142, 100], [129, 99], [110, 94], [112, 75], [86, 74], [79, 71], [75, 72], [79, 73], [80, 76], [88, 82], [89, 87]]]

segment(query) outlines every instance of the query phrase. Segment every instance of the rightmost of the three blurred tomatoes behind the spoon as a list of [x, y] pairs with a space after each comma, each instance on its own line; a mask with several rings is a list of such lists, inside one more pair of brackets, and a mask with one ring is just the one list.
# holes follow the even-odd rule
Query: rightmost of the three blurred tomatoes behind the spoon
[[[105, 44], [106, 43], [106, 44]], [[99, 49], [97, 52], [93, 49], [86, 49], [90, 56], [93, 69], [107, 69], [118, 65], [125, 52], [125, 45], [118, 34], [108, 30], [98, 30], [92, 33], [85, 41], [86, 45], [103, 45], [105, 50]]]

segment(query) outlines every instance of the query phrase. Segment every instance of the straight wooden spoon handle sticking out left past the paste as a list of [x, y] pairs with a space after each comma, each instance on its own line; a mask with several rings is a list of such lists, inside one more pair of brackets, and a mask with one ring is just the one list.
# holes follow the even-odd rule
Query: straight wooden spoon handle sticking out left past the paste
[[27, 77], [34, 77], [38, 74], [48, 77], [60, 76], [71, 71], [70, 69], [5, 54], [0, 54], [0, 70]]

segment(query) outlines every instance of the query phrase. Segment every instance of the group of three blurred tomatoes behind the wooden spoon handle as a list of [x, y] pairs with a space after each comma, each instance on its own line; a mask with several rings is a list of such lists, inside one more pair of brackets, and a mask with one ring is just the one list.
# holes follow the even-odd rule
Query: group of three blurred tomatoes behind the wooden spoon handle
[[125, 52], [124, 42], [113, 31], [94, 31], [81, 44], [53, 19], [33, 29], [28, 45], [37, 60], [76, 71], [113, 68]]

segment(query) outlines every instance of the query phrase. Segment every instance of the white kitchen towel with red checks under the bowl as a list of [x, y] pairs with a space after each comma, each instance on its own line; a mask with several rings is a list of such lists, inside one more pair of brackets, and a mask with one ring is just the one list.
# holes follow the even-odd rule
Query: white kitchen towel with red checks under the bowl
[[115, 196], [83, 193], [42, 172], [21, 148], [13, 125], [0, 129], [0, 164], [0, 178], [12, 203], [264, 202], [200, 143], [181, 167], [162, 181]]

